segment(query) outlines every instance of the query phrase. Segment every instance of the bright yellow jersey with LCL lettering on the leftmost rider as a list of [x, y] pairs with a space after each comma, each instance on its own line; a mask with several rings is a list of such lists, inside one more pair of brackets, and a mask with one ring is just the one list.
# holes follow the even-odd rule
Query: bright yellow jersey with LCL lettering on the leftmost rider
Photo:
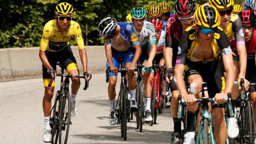
[[84, 40], [82, 38], [82, 31], [79, 24], [71, 20], [68, 29], [61, 34], [58, 30], [56, 20], [50, 20], [44, 26], [42, 34], [40, 50], [58, 52], [68, 46], [71, 36], [76, 38], [79, 49], [84, 48]]

